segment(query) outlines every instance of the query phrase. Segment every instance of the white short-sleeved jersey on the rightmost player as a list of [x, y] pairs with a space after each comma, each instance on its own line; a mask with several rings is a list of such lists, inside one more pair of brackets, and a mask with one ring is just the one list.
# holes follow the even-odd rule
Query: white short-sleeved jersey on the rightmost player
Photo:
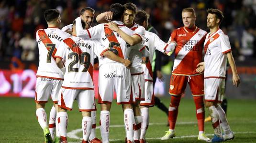
[[225, 78], [227, 56], [231, 51], [228, 36], [222, 30], [208, 33], [204, 42], [204, 78]]

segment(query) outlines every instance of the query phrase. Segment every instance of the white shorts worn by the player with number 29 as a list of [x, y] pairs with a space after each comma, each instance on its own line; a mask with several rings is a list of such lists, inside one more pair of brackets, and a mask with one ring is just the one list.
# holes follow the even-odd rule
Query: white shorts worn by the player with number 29
[[94, 90], [61, 88], [58, 106], [72, 110], [75, 99], [77, 99], [79, 111], [96, 111]]

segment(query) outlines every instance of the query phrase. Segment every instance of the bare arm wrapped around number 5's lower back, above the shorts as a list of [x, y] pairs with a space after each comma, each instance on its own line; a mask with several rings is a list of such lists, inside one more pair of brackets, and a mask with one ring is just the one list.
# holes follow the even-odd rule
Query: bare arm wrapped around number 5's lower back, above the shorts
[[127, 59], [123, 59], [119, 56], [117, 56], [116, 54], [114, 54], [112, 51], [105, 51], [103, 53], [103, 56], [112, 60], [112, 61], [116, 61], [116, 62], [119, 62], [119, 63], [122, 63], [124, 66], [126, 66], [127, 68], [130, 68], [131, 66], [131, 61], [127, 60]]

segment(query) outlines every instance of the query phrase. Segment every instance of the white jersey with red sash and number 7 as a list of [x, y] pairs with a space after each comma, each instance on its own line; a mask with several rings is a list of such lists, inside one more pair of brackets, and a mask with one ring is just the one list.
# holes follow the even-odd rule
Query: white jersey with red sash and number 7
[[47, 28], [36, 31], [36, 41], [39, 50], [39, 66], [36, 77], [63, 79], [63, 75], [55, 62], [55, 53], [59, 43], [71, 36], [58, 28]]

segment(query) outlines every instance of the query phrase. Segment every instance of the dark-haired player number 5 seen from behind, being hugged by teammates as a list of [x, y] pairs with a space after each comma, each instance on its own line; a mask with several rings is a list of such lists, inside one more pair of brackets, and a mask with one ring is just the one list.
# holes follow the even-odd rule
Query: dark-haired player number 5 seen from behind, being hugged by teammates
[[[113, 12], [112, 20], [116, 23], [122, 31], [128, 35], [133, 35], [134, 31], [123, 25], [122, 15], [123, 7], [119, 3], [112, 4], [110, 11]], [[79, 18], [77, 20], [80, 20]], [[78, 22], [79, 23], [79, 22]], [[77, 24], [78, 24], [77, 23]], [[77, 25], [78, 36], [84, 38], [93, 38], [100, 40], [104, 45], [108, 45], [109, 49], [116, 53], [118, 56], [127, 59], [132, 49], [138, 49], [138, 46], [131, 46], [127, 44], [116, 32], [111, 31], [108, 25], [99, 24], [88, 30], [81, 30]], [[149, 56], [149, 52], [142, 45], [139, 51]], [[140, 47], [140, 48], [141, 48]], [[124, 123], [127, 134], [127, 142], [134, 141], [134, 112], [131, 103], [135, 102], [131, 90], [131, 73], [126, 70], [122, 65], [100, 58], [100, 71], [99, 71], [99, 103], [101, 105], [100, 112], [100, 132], [103, 143], [109, 143], [109, 125], [110, 125], [110, 108], [113, 99], [113, 90], [117, 93], [117, 103], [122, 104], [124, 111]], [[111, 90], [110, 90], [111, 89]]]

